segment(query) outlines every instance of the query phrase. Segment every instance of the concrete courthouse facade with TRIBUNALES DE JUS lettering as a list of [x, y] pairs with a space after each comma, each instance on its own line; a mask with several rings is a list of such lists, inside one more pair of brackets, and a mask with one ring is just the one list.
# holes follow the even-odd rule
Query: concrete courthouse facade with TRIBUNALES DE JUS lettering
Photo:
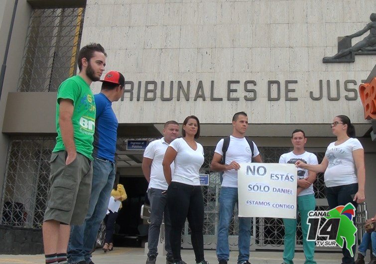
[[[329, 124], [336, 115], [349, 116], [366, 153], [367, 209], [373, 215], [376, 144], [358, 88], [374, 68], [376, 55], [356, 55], [353, 63], [322, 59], [337, 53], [338, 37], [370, 23], [375, 6], [376, 0], [2, 1], [0, 34], [10, 32], [11, 38], [7, 54], [6, 38], [0, 40], [0, 59], [7, 58], [0, 98], [0, 210], [2, 215], [14, 212], [17, 204], [26, 215], [21, 221], [3, 218], [1, 224], [39, 228], [55, 136], [56, 89], [76, 72], [76, 51], [89, 42], [105, 47], [106, 71], [125, 75], [124, 97], [114, 110], [120, 124], [118, 172], [125, 189], [127, 184], [138, 186], [129, 210], [142, 203], [147, 184], [140, 168], [142, 151], [127, 150], [127, 141], [161, 137], [165, 121], [181, 123], [196, 115], [202, 124], [199, 142], [205, 147], [202, 173], [210, 175], [204, 188], [206, 247], [215, 247], [220, 182], [208, 164], [217, 142], [231, 133], [233, 114], [245, 111], [247, 135], [265, 162], [278, 162], [290, 150], [296, 128], [306, 132], [307, 150], [322, 159], [335, 140]], [[38, 26], [43, 23], [51, 37], [35, 33], [42, 32]], [[352, 44], [368, 34], [353, 38]], [[42, 50], [38, 43], [49, 48]], [[40, 53], [48, 55], [47, 61]], [[92, 89], [98, 92], [100, 83]], [[35, 197], [22, 199], [19, 190]], [[315, 190], [318, 206], [325, 208], [322, 175]], [[5, 210], [4, 204], [12, 207]], [[123, 220], [137, 227], [137, 222]], [[237, 219], [234, 223], [235, 247]], [[253, 248], [283, 244], [283, 234], [260, 235], [273, 233], [280, 220], [255, 219], [254, 224], [260, 229], [253, 231]], [[183, 246], [189, 247], [185, 239]]]

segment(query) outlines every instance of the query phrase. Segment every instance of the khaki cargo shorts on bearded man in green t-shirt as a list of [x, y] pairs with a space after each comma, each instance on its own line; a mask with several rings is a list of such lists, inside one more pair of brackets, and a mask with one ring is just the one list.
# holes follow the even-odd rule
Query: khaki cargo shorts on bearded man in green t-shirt
[[67, 225], [81, 225], [89, 209], [93, 163], [77, 153], [76, 159], [65, 165], [67, 152], [51, 155], [47, 208], [43, 221], [56, 220]]

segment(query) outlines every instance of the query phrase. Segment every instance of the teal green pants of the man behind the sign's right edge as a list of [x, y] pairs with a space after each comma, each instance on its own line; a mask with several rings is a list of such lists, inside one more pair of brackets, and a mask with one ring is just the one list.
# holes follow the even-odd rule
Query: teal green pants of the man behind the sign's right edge
[[[316, 261], [314, 260], [315, 242], [307, 241], [309, 228], [307, 224], [308, 212], [315, 210], [315, 196], [313, 194], [298, 196], [297, 203], [303, 233], [303, 251], [305, 255], [304, 264], [316, 264]], [[292, 259], [295, 254], [296, 219], [283, 218], [283, 224], [285, 228], [283, 261], [287, 264], [293, 264], [294, 262]]]

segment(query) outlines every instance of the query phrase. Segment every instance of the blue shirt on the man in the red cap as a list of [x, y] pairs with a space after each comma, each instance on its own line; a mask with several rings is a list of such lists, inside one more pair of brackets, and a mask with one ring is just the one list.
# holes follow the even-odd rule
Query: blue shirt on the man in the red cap
[[105, 94], [95, 94], [94, 100], [97, 113], [93, 156], [115, 162], [118, 119], [112, 109], [112, 102]]

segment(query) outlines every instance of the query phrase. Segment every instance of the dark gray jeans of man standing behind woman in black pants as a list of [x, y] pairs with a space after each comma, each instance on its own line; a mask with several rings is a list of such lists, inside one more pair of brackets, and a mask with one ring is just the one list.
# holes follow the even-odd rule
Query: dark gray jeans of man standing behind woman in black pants
[[150, 201], [150, 226], [149, 226], [149, 237], [147, 240], [147, 248], [149, 249], [150, 255], [158, 255], [157, 246], [159, 242], [159, 232], [160, 225], [162, 224], [163, 213], [164, 213], [164, 248], [167, 251], [167, 258], [172, 257], [171, 245], [170, 245], [170, 231], [171, 222], [170, 214], [166, 206], [166, 192], [162, 194], [164, 190], [150, 188], [147, 191], [147, 197]]

